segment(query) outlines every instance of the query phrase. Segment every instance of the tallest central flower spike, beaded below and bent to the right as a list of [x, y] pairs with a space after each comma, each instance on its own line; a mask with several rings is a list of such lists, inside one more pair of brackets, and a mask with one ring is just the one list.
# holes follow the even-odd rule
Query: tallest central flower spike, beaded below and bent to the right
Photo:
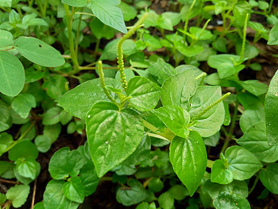
[[124, 56], [122, 54], [122, 44], [124, 43], [124, 40], [130, 38], [133, 33], [136, 32], [136, 30], [142, 26], [142, 23], [144, 22], [144, 20], [146, 19], [148, 13], [145, 13], [144, 15], [142, 15], [142, 17], [140, 18], [140, 20], [138, 20], [138, 22], [136, 22], [136, 24], [133, 26], [132, 29], [129, 30], [129, 32], [127, 32], [120, 40], [119, 42], [117, 42], [117, 63], [119, 65], [119, 71], [120, 71], [120, 78], [121, 78], [121, 82], [122, 82], [122, 88], [124, 88], [124, 91], [126, 91], [126, 87], [127, 87], [127, 82], [126, 82], [126, 77], [124, 75]]

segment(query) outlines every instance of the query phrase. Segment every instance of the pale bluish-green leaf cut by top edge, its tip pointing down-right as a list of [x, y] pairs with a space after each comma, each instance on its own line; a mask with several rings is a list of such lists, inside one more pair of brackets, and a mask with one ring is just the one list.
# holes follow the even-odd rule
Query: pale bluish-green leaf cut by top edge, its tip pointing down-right
[[120, 8], [115, 6], [113, 0], [102, 1], [94, 0], [91, 1], [92, 13], [104, 24], [117, 29], [122, 33], [127, 33], [126, 25], [124, 24], [124, 17]]

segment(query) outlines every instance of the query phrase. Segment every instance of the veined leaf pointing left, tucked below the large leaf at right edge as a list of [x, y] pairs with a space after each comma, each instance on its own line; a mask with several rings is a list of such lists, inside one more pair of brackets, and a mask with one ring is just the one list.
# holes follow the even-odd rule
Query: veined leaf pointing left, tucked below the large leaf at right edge
[[265, 132], [265, 121], [259, 121], [250, 126], [236, 143], [249, 150], [260, 161], [276, 162], [278, 160], [278, 146], [268, 145]]

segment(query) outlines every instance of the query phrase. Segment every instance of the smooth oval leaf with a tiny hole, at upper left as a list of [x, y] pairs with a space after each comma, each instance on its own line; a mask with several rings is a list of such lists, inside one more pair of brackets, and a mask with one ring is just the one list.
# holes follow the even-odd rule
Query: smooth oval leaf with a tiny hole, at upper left
[[60, 52], [38, 38], [22, 36], [15, 40], [14, 46], [22, 56], [37, 65], [54, 68], [65, 64]]

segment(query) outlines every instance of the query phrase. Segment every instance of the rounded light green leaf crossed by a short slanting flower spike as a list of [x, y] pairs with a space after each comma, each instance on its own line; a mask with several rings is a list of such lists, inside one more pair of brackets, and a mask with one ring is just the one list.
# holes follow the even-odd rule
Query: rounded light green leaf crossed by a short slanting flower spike
[[[196, 93], [189, 100], [190, 118], [197, 116], [197, 114], [206, 109], [210, 104], [220, 99], [221, 96], [220, 86], [199, 86]], [[197, 118], [195, 120], [196, 124], [190, 128], [199, 132], [201, 137], [210, 137], [220, 130], [224, 122], [224, 116], [224, 104], [220, 102]]]

